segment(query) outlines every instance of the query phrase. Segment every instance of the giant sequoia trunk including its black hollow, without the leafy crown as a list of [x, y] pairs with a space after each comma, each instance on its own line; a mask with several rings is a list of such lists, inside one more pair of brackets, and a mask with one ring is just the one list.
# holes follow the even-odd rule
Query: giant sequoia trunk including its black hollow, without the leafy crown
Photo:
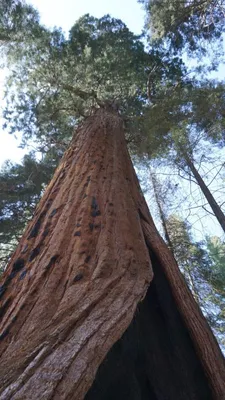
[[1, 400], [224, 399], [223, 356], [153, 224], [114, 112], [78, 130], [0, 294]]

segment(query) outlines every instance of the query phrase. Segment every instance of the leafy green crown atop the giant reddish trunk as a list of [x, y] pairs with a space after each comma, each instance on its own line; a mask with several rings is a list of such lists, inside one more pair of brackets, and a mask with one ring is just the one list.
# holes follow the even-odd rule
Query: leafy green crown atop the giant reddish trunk
[[[104, 102], [136, 115], [146, 100], [148, 55], [120, 20], [88, 15], [71, 29], [26, 42], [16, 52], [8, 79], [5, 126], [23, 131], [24, 140], [71, 138], [76, 123]], [[12, 65], [12, 64], [11, 64]]]

